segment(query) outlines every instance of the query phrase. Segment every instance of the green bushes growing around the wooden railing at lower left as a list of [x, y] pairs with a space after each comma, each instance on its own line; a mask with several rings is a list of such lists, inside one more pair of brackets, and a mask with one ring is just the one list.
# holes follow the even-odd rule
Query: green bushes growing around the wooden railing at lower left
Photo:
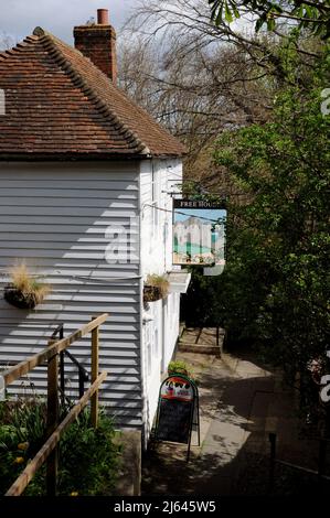
[[[3, 495], [45, 442], [46, 406], [40, 398], [0, 403], [0, 495]], [[111, 495], [120, 464], [113, 420], [99, 413], [97, 430], [85, 409], [60, 442], [58, 495]], [[45, 465], [25, 489], [45, 494]]]

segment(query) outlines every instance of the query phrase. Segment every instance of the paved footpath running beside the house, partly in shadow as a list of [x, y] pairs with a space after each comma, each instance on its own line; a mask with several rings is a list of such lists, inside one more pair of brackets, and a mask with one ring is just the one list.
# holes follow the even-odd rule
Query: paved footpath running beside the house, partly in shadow
[[192, 365], [200, 381], [201, 446], [194, 445], [194, 432], [187, 464], [187, 445], [151, 445], [142, 460], [143, 495], [266, 494], [269, 432], [280, 439], [279, 455], [315, 467], [316, 450], [297, 441], [295, 400], [278, 374], [227, 354], [178, 353], [177, 358]]

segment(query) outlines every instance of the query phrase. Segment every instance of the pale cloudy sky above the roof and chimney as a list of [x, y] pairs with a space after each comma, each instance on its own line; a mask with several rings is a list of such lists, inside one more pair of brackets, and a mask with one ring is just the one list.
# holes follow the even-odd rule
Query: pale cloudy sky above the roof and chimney
[[108, 9], [110, 23], [120, 29], [137, 0], [0, 0], [0, 33], [21, 41], [38, 25], [72, 43], [74, 25], [82, 25], [97, 9]]

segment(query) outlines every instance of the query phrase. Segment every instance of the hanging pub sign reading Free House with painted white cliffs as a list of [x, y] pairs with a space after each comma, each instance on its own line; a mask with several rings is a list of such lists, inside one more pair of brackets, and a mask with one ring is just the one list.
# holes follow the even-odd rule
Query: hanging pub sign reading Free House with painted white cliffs
[[173, 199], [173, 265], [224, 266], [225, 222], [222, 202]]

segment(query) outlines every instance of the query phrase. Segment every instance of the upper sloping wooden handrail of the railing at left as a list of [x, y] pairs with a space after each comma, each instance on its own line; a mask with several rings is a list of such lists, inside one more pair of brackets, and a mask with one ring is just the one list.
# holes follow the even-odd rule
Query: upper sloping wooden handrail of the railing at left
[[55, 354], [61, 353], [61, 350], [65, 350], [71, 344], [73, 344], [74, 342], [82, 338], [86, 334], [91, 333], [91, 331], [94, 331], [96, 327], [103, 324], [107, 320], [107, 317], [108, 313], [99, 315], [97, 319], [91, 321], [88, 324], [84, 325], [84, 327], [75, 331], [66, 338], [62, 338], [53, 343], [47, 348], [43, 349], [41, 353], [38, 353], [31, 358], [25, 359], [20, 364], [15, 365], [14, 367], [11, 367], [10, 369], [0, 373], [3, 377], [4, 386], [7, 387], [8, 385], [19, 379], [21, 376], [24, 376], [25, 374], [30, 373], [32, 369], [34, 369], [34, 367], [44, 364], [47, 359], [51, 359]]

